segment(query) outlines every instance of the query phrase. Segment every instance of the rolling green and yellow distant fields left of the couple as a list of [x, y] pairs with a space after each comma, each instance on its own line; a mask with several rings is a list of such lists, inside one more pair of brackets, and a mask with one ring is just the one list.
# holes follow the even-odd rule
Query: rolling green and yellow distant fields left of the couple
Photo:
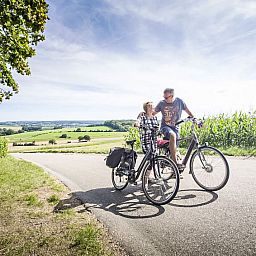
[[[115, 132], [106, 126], [52, 129], [34, 132], [25, 132], [5, 136], [9, 142], [9, 152], [79, 152], [79, 153], [106, 153], [111, 147], [122, 146], [125, 132]], [[98, 132], [97, 132], [98, 131]], [[67, 134], [68, 138], [60, 138]], [[78, 143], [78, 137], [89, 135], [90, 142]], [[56, 140], [57, 144], [50, 145], [49, 140]], [[13, 146], [13, 142], [36, 142], [35, 146]], [[70, 143], [68, 143], [70, 142]]]

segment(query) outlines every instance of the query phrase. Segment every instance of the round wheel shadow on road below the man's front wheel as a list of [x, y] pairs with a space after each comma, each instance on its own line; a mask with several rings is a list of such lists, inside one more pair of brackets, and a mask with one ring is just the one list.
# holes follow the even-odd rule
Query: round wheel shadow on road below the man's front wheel
[[175, 207], [200, 207], [211, 204], [218, 199], [215, 192], [202, 189], [179, 190], [178, 195], [169, 204]]

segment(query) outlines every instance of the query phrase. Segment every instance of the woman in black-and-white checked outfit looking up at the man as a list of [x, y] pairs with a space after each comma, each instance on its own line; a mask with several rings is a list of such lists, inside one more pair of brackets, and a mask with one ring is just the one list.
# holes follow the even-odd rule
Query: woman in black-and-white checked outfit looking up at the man
[[142, 151], [146, 154], [147, 151], [151, 149], [151, 143], [153, 152], [155, 152], [157, 148], [157, 130], [159, 128], [159, 123], [157, 117], [153, 115], [154, 107], [151, 101], [143, 104], [143, 110], [144, 112], [139, 114], [135, 126], [140, 128]]

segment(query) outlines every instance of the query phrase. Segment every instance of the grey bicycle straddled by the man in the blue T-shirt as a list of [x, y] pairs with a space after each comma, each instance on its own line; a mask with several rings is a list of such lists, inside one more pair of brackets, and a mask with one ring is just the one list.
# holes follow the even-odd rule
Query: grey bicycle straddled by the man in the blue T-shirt
[[[229, 179], [229, 164], [223, 153], [215, 147], [200, 145], [199, 139], [195, 132], [195, 126], [199, 128], [203, 126], [203, 122], [196, 118], [188, 117], [180, 120], [176, 123], [176, 126], [185, 123], [192, 122], [191, 135], [186, 138], [179, 138], [177, 142], [183, 140], [190, 140], [185, 157], [182, 160], [183, 169], [180, 169], [180, 173], [184, 171], [189, 161], [189, 174], [192, 174], [193, 179], [201, 188], [206, 191], [217, 191], [222, 189]], [[169, 140], [165, 138], [158, 140], [159, 154], [170, 158]], [[195, 149], [195, 150], [194, 150]], [[194, 152], [193, 152], [194, 151]], [[214, 163], [216, 163], [214, 165]]]

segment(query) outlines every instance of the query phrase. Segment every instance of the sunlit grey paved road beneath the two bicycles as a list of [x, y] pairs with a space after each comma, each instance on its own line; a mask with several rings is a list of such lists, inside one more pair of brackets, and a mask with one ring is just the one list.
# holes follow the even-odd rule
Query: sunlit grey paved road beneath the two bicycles
[[228, 158], [231, 177], [217, 193], [186, 172], [175, 200], [156, 207], [140, 186], [114, 191], [103, 155], [14, 155], [54, 171], [130, 255], [256, 255], [255, 159]]

